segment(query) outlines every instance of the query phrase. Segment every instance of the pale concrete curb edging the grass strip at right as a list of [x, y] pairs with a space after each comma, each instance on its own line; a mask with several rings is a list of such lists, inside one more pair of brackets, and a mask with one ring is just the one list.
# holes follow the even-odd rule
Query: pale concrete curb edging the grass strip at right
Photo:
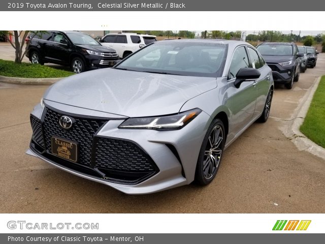
[[300, 126], [303, 124], [308, 112], [314, 93], [318, 87], [321, 77], [315, 79], [313, 85], [307, 90], [305, 96], [299, 101], [299, 106], [293, 113], [293, 119], [282, 128], [283, 134], [289, 138], [300, 151], [308, 151], [321, 159], [325, 160], [325, 148], [309, 140], [301, 131]]

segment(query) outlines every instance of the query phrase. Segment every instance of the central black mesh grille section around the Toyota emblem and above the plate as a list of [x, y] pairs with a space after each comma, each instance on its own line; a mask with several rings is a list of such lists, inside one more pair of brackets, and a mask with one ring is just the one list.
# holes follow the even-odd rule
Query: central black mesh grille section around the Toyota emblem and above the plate
[[91, 145], [95, 133], [107, 121], [104, 119], [75, 117], [76, 121], [69, 130], [62, 129], [59, 126], [59, 118], [63, 115], [49, 108], [46, 109], [44, 117], [44, 139], [46, 149], [51, 151], [51, 137], [59, 136], [72, 141], [79, 142], [79, 160], [78, 163], [90, 167], [91, 165]]

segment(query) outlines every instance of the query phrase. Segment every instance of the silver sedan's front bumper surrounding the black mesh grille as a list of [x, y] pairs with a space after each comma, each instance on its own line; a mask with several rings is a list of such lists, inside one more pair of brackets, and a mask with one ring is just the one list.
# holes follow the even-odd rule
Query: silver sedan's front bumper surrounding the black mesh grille
[[[55, 107], [56, 111], [60, 111], [60, 115], [68, 114], [69, 116], [77, 119], [80, 116], [89, 116], [89, 110], [78, 108], [78, 114], [75, 113], [75, 116], [73, 116], [73, 113], [71, 112], [76, 110], [75, 107], [62, 105], [50, 101], [47, 101], [47, 104], [48, 105], [44, 110], [43, 108], [41, 108], [40, 105], [38, 105], [31, 113], [31, 116], [34, 119], [40, 120], [40, 130], [43, 131], [44, 147], [40, 147], [38, 145], [39, 143], [35, 142], [37, 141], [37, 136], [35, 136], [35, 128], [33, 127], [33, 137], [31, 139], [30, 148], [26, 151], [26, 153], [41, 158], [47, 163], [54, 165], [55, 167], [58, 167], [62, 170], [65, 170], [67, 172], [73, 173], [86, 179], [90, 179], [111, 186], [126, 194], [148, 194], [190, 184], [190, 182], [192, 182], [194, 179], [194, 173], [199, 156], [199, 151], [203, 138], [207, 131], [207, 125], [209, 125], [212, 120], [208, 114], [206, 114], [205, 112], [201, 112], [193, 121], [191, 121], [191, 123], [186, 125], [181, 130], [156, 131], [118, 129], [118, 126], [122, 123], [122, 121], [125, 120], [125, 117], [114, 117], [108, 119], [108, 121], [106, 121], [104, 125], [95, 133], [94, 138], [104, 138], [107, 140], [112, 140], [113, 143], [111, 144], [115, 143], [115, 145], [117, 145], [114, 148], [107, 148], [107, 154], [101, 154], [102, 156], [104, 155], [103, 157], [105, 158], [105, 162], [107, 163], [106, 165], [109, 165], [109, 167], [110, 165], [112, 165], [112, 163], [109, 162], [110, 157], [112, 156], [106, 157], [106, 155], [116, 156], [114, 158], [115, 161], [113, 162], [113, 164], [115, 165], [119, 164], [120, 166], [121, 164], [126, 164], [125, 167], [121, 167], [122, 170], [121, 168], [119, 168], [119, 172], [117, 172], [119, 175], [117, 175], [115, 174], [116, 172], [114, 170], [114, 173], [112, 174], [111, 171], [109, 171], [107, 168], [106, 170], [102, 170], [102, 166], [99, 165], [104, 164], [97, 164], [96, 162], [94, 162], [99, 158], [98, 156], [97, 158], [94, 157], [95, 150], [98, 150], [94, 143], [95, 139], [92, 141], [92, 144], [90, 146], [91, 148], [89, 149], [91, 155], [89, 157], [86, 157], [87, 159], [90, 159], [90, 162], [84, 162], [85, 160], [81, 160], [77, 163], [73, 163], [70, 161], [68, 162], [67, 160], [63, 160], [52, 154], [50, 148], [51, 145], [46, 142], [48, 141], [46, 137], [49, 137], [51, 135], [63, 137], [64, 135], [57, 135], [59, 131], [55, 131], [53, 132], [53, 134], [51, 134], [49, 130], [45, 128], [45, 126], [47, 126], [47, 122], [44, 122], [44, 120], [46, 120], [45, 117], [47, 116], [46, 109], [52, 109]], [[109, 114], [91, 111], [90, 119], [94, 117], [99, 118], [99, 116], [104, 116], [107, 118], [109, 117], [108, 115]], [[67, 134], [66, 139], [73, 140], [76, 142], [78, 142], [78, 140], [81, 140], [79, 143], [84, 143], [82, 139], [80, 139], [79, 134], [76, 139], [71, 138], [71, 135], [69, 136], [69, 134]], [[133, 150], [132, 157], [135, 157], [134, 148], [132, 147], [130, 149], [130, 146], [128, 144], [127, 150], [125, 150], [125, 148], [118, 149], [118, 146], [123, 145], [119, 144], [119, 141], [127, 141], [128, 143], [139, 146], [142, 151], [140, 150], [140, 153], [139, 151], [137, 153], [143, 153], [143, 155], [147, 155], [148, 158], [152, 159], [152, 162], [154, 164], [153, 168], [155, 169], [154, 172], [148, 174], [148, 177], [144, 177], [142, 179], [139, 178], [139, 180], [128, 180], [128, 176], [125, 176], [125, 178], [123, 178], [123, 172], [121, 171], [123, 171], [124, 169], [128, 171], [127, 167], [136, 168], [137, 165], [129, 164], [125, 161], [125, 158], [128, 157], [127, 151]], [[99, 145], [100, 144], [98, 144], [97, 146]], [[100, 146], [104, 147], [105, 145], [102, 144]], [[83, 151], [86, 151], [85, 148], [82, 149]], [[136, 155], [136, 157], [137, 156], [138, 155]], [[119, 161], [118, 157], [123, 157], [123, 160]], [[134, 159], [132, 159], [132, 157], [131, 161]], [[140, 161], [137, 161], [136, 163], [139, 162]], [[142, 166], [140, 165], [140, 167]]]

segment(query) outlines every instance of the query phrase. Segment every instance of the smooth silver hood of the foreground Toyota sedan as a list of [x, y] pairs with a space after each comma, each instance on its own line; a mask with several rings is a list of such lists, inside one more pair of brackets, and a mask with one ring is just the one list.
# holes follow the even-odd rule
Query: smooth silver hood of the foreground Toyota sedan
[[127, 117], [156, 116], [177, 113], [186, 101], [216, 86], [213, 77], [107, 68], [65, 78], [44, 99]]

